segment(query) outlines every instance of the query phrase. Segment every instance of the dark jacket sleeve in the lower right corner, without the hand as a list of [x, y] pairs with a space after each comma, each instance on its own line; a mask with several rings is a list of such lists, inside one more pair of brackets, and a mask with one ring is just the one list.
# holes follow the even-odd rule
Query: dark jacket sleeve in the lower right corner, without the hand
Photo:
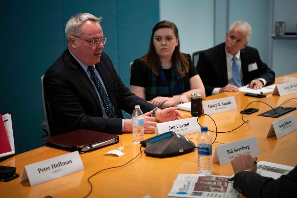
[[252, 171], [235, 174], [234, 188], [246, 197], [297, 197], [297, 166], [277, 180]]

